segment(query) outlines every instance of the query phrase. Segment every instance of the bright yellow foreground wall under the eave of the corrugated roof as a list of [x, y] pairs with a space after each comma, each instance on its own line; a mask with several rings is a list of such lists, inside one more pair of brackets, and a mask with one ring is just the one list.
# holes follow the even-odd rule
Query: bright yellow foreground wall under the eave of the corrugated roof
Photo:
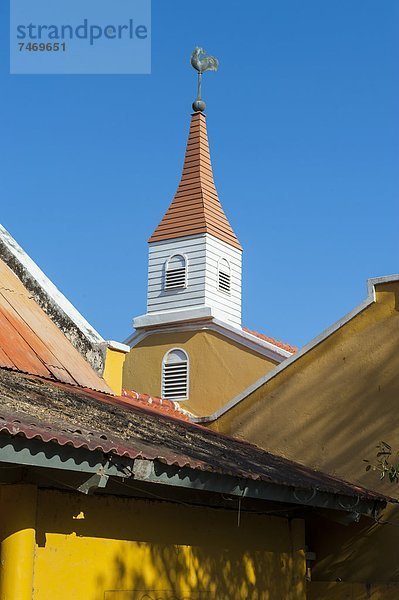
[[[34, 548], [20, 552], [34, 555], [34, 600], [306, 598], [300, 520], [241, 513], [238, 527], [236, 511], [50, 490], [36, 511]], [[19, 526], [8, 518], [8, 540]]]

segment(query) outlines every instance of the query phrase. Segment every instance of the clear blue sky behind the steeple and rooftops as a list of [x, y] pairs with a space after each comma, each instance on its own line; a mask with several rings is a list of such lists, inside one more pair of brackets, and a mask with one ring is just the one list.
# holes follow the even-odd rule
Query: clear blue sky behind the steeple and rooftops
[[5, 4], [0, 222], [104, 337], [145, 312], [195, 45], [221, 63], [204, 98], [243, 323], [302, 345], [399, 271], [396, 0], [154, 0], [152, 74], [121, 76], [9, 75]]

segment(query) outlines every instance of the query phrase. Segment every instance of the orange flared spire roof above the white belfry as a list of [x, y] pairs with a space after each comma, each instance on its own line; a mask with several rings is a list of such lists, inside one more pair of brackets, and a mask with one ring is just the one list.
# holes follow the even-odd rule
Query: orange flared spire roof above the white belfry
[[241, 249], [213, 181], [206, 118], [200, 112], [191, 117], [183, 174], [176, 195], [149, 242], [158, 242], [199, 233], [209, 233]]

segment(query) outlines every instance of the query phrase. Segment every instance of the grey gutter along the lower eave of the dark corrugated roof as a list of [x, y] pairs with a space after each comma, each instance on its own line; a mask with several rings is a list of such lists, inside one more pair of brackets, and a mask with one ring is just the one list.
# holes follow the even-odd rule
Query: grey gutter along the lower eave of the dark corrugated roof
[[[8, 465], [58, 469], [87, 474], [87, 480], [76, 488], [82, 493], [105, 488], [110, 477], [123, 478], [155, 485], [185, 488], [186, 490], [227, 494], [237, 498], [251, 498], [281, 502], [298, 507], [317, 507], [373, 517], [390, 500], [362, 499], [360, 496], [332, 494], [315, 488], [302, 489], [264, 481], [196, 471], [189, 467], [169, 466], [157, 460], [130, 459], [101, 451], [90, 451], [73, 446], [59, 446], [37, 439], [0, 437], [0, 462]], [[1, 471], [0, 471], [1, 472]]]

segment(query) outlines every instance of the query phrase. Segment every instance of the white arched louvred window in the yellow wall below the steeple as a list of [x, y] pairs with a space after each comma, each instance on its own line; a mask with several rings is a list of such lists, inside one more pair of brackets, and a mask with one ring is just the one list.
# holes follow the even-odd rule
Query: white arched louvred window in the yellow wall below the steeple
[[188, 356], [181, 348], [173, 348], [163, 357], [162, 398], [188, 398]]

